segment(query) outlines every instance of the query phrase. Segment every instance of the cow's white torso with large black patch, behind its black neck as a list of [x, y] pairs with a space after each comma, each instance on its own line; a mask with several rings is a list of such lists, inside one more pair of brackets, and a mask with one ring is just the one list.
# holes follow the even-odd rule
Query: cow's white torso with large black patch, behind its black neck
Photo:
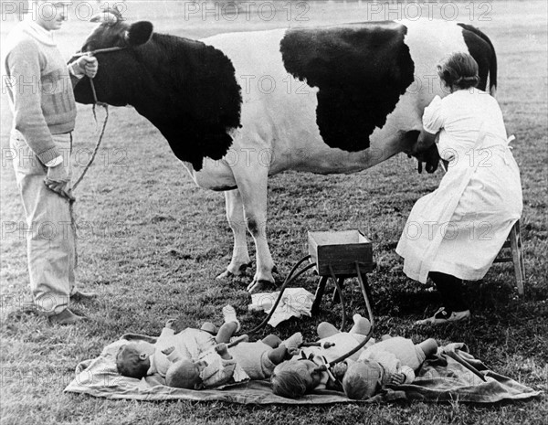
[[271, 174], [339, 173], [384, 161], [422, 128], [425, 106], [446, 94], [437, 63], [469, 51], [463, 30], [445, 21], [386, 21], [203, 41], [227, 55], [240, 84], [234, 149], [270, 150]]

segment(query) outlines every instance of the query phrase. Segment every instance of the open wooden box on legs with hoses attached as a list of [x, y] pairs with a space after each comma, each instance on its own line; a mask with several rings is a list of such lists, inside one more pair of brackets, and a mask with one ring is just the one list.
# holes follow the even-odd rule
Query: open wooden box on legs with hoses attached
[[309, 254], [320, 276], [355, 276], [356, 261], [360, 271], [373, 270], [373, 246], [359, 230], [309, 231]]

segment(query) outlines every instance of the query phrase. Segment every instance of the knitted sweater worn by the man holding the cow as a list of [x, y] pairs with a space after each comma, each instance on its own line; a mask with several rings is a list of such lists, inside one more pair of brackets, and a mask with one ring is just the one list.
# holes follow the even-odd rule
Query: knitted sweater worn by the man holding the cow
[[5, 87], [14, 128], [43, 164], [59, 156], [52, 134], [74, 130], [73, 81], [49, 32], [24, 20], [5, 44]]

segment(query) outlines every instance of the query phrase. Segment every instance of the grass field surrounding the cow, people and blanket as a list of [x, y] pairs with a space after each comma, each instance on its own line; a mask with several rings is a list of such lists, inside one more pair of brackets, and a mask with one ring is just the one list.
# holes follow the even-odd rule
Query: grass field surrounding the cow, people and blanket
[[[4, 3], [4, 2], [3, 2]], [[128, 3], [131, 20], [153, 20], [163, 32], [186, 37], [360, 20], [367, 5], [310, 3], [309, 21], [256, 14], [228, 21], [222, 16], [184, 16], [183, 2]], [[470, 21], [470, 9], [475, 11]], [[485, 8], [487, 5], [487, 8]], [[93, 6], [96, 6], [93, 3]], [[292, 4], [296, 7], [296, 4]], [[278, 9], [279, 10], [279, 9]], [[302, 10], [295, 9], [296, 12]], [[370, 10], [371, 11], [371, 10]], [[434, 11], [439, 12], [437, 8]], [[486, 12], [487, 11], [487, 12]], [[287, 10], [286, 10], [287, 12]], [[496, 265], [480, 284], [470, 283], [472, 319], [437, 328], [413, 325], [438, 305], [437, 295], [406, 279], [395, 242], [416, 199], [437, 186], [440, 173], [417, 175], [415, 163], [399, 155], [355, 175], [286, 173], [269, 181], [269, 242], [281, 281], [306, 251], [309, 229], [363, 228], [374, 240], [376, 270], [370, 275], [377, 320], [375, 335], [391, 333], [440, 344], [463, 341], [470, 352], [495, 371], [523, 384], [548, 390], [548, 230], [547, 156], [548, 78], [546, 3], [463, 3], [459, 19], [483, 29], [499, 58], [498, 99], [507, 126], [517, 137], [514, 155], [520, 165], [524, 197], [522, 238], [525, 250], [525, 296], [513, 287], [511, 265]], [[487, 13], [479, 20], [481, 13]], [[294, 16], [294, 15], [293, 15]], [[4, 16], [3, 16], [4, 17]], [[207, 16], [206, 16], [207, 17]], [[264, 16], [263, 16], [264, 17]], [[369, 16], [383, 18], [384, 16]], [[395, 16], [390, 16], [395, 17]], [[435, 16], [440, 17], [440, 16]], [[13, 27], [2, 21], [2, 37]], [[59, 33], [67, 56], [79, 48], [90, 24], [78, 19]], [[101, 113], [101, 112], [100, 112]], [[15, 175], [5, 152], [11, 115], [2, 98], [1, 296], [2, 309], [26, 292], [26, 240], [7, 232], [24, 220]], [[89, 107], [79, 108], [76, 130], [77, 166], [85, 164], [95, 141]], [[250, 276], [215, 280], [230, 260], [232, 234], [227, 227], [222, 194], [195, 187], [163, 137], [129, 108], [111, 109], [111, 121], [100, 154], [79, 186], [78, 281], [99, 292], [99, 300], [77, 305], [90, 322], [51, 327], [40, 317], [1, 324], [1, 423], [8, 424], [161, 424], [161, 423], [546, 423], [548, 402], [540, 400], [470, 406], [420, 402], [382, 406], [311, 408], [254, 407], [218, 402], [147, 403], [109, 401], [63, 394], [74, 367], [98, 356], [101, 348], [126, 332], [157, 335], [167, 318], [197, 326], [221, 321], [221, 307], [237, 308], [244, 328], [262, 316], [248, 313]], [[250, 239], [249, 239], [250, 240]], [[251, 252], [252, 254], [252, 252]], [[313, 292], [311, 276], [297, 282]], [[357, 288], [348, 296], [353, 312], [364, 313]], [[340, 310], [324, 301], [319, 317], [290, 321], [277, 329], [282, 336], [297, 330], [309, 338], [320, 320], [339, 323]], [[329, 307], [329, 308], [327, 308]], [[266, 329], [264, 333], [268, 333]]]

